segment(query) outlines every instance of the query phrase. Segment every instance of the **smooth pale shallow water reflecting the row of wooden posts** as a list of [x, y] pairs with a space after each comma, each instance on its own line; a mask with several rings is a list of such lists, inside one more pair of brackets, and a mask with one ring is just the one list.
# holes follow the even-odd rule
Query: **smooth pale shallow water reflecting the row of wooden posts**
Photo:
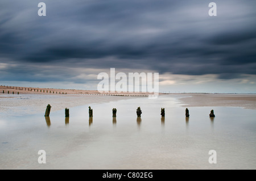
[[[64, 110], [49, 119], [1, 116], [0, 169], [256, 169], [255, 110], [188, 107], [186, 119], [175, 98], [86, 104], [70, 108], [68, 120]], [[46, 151], [46, 164], [38, 163], [39, 150]], [[208, 162], [209, 150], [216, 150], [216, 164]]]

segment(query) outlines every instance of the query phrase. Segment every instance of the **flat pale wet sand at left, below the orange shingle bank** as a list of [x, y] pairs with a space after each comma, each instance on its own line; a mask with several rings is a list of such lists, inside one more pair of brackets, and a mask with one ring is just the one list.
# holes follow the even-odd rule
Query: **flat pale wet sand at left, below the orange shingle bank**
[[125, 99], [146, 98], [138, 96], [106, 96], [106, 95], [0, 95], [0, 113], [5, 115], [32, 115], [46, 111], [48, 104], [51, 105], [51, 112], [65, 110], [86, 104], [100, 104]]

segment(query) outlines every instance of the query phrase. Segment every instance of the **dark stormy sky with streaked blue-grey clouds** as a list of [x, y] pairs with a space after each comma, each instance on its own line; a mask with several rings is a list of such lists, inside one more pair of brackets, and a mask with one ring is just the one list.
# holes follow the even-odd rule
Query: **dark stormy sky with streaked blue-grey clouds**
[[[39, 16], [39, 2], [46, 16]], [[217, 16], [209, 16], [210, 2]], [[256, 93], [255, 0], [0, 2], [1, 85], [96, 90], [159, 73], [159, 91]]]

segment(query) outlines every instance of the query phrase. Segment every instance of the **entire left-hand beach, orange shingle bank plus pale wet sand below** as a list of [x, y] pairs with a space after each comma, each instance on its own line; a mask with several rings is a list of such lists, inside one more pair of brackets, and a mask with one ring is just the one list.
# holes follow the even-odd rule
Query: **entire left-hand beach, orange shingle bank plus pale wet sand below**
[[59, 111], [85, 104], [135, 99], [141, 98], [141, 96], [147, 98], [147, 95], [144, 92], [108, 92], [101, 94], [96, 90], [0, 86], [0, 113], [28, 115], [44, 113], [48, 104], [52, 107], [51, 111]]

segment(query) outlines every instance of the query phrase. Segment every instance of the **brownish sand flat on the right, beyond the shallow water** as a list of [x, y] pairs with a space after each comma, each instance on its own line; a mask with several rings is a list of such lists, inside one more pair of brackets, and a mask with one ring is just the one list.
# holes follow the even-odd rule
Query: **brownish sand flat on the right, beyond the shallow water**
[[182, 107], [242, 107], [256, 110], [255, 94], [181, 94]]

